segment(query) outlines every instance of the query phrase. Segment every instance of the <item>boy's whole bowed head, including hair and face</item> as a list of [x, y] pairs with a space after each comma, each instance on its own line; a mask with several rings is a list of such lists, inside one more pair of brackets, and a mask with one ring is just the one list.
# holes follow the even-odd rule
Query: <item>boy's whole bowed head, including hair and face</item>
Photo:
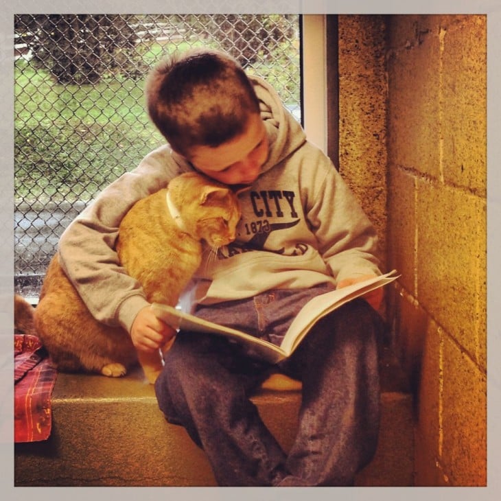
[[145, 86], [148, 112], [171, 147], [222, 183], [250, 184], [268, 158], [259, 101], [228, 54], [193, 49], [161, 62]]

